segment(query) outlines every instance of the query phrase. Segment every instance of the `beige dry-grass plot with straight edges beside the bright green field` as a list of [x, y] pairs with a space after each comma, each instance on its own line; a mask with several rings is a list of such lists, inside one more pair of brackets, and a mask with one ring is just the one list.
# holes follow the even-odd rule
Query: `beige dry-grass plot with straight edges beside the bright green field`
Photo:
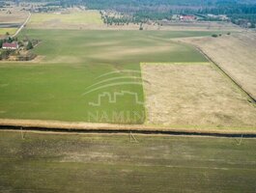
[[209, 65], [142, 65], [148, 124], [256, 126], [256, 108]]

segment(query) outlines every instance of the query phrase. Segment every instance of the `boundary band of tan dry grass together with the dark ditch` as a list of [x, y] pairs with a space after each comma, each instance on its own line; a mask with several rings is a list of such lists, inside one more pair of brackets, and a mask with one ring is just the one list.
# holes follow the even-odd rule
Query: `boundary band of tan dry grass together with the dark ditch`
[[0, 129], [24, 129], [66, 132], [99, 132], [99, 133], [142, 133], [142, 134], [177, 134], [205, 135], [222, 137], [256, 137], [254, 128], [188, 128], [145, 124], [92, 124], [68, 123], [39, 120], [7, 120], [0, 119]]

